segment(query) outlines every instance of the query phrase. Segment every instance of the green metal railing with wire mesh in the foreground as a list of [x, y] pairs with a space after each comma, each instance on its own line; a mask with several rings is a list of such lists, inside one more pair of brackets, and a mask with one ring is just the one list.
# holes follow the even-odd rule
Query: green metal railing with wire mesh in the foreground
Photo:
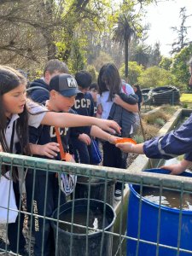
[[[67, 162], [61, 162], [57, 160], [45, 160], [45, 159], [40, 159], [40, 158], [35, 158], [35, 157], [30, 157], [30, 156], [23, 156], [23, 155], [18, 155], [18, 154], [7, 154], [7, 153], [0, 153], [0, 166], [5, 165], [9, 166], [10, 172], [12, 172], [13, 167], [17, 166], [19, 167], [20, 173], [21, 173], [21, 180], [24, 181], [25, 177], [25, 172], [27, 169], [33, 170], [32, 172], [38, 172], [38, 170], [41, 170], [42, 172], [45, 172], [46, 175], [48, 176], [49, 172], [55, 172], [55, 173], [61, 173], [65, 172], [67, 174], [75, 174], [78, 176], [84, 176], [88, 177], [89, 179], [91, 178], [98, 178], [102, 179], [104, 182], [104, 215], [106, 211], [106, 203], [107, 203], [107, 192], [108, 192], [108, 183], [109, 182], [115, 182], [115, 181], [120, 181], [122, 183], [122, 188], [124, 187], [125, 183], [132, 183], [132, 184], [139, 184], [141, 188], [143, 186], [148, 185], [148, 186], [153, 186], [156, 188], [161, 188], [160, 191], [163, 189], [173, 189], [180, 191], [182, 194], [184, 192], [192, 194], [192, 179], [189, 177], [177, 177], [177, 176], [172, 176], [172, 175], [163, 175], [163, 174], [157, 174], [157, 173], [149, 173], [149, 172], [134, 172], [134, 171], [129, 171], [124, 170], [124, 169], [116, 169], [116, 168], [110, 168], [110, 167], [104, 167], [104, 166], [89, 166], [89, 165], [82, 165], [82, 164], [74, 164], [74, 163], [67, 163]], [[2, 168], [1, 168], [2, 169]], [[1, 170], [0, 169], [0, 170]], [[137, 170], [138, 171], [138, 170]], [[58, 175], [60, 179], [60, 175]], [[89, 180], [88, 179], [88, 180]], [[34, 183], [33, 182], [33, 189], [34, 189]], [[90, 184], [88, 183], [88, 206], [90, 206]], [[46, 191], [48, 188], [48, 185], [46, 185]], [[129, 189], [126, 189], [129, 190]], [[21, 187], [21, 192], [25, 192], [25, 189]], [[25, 194], [24, 194], [25, 195]], [[124, 192], [124, 195], [127, 196], [127, 192]], [[34, 191], [32, 192], [32, 198], [34, 196]], [[59, 198], [62, 196], [61, 189], [59, 190]], [[46, 198], [44, 201], [49, 200], [49, 198]], [[45, 220], [54, 220], [57, 223], [57, 228], [59, 227], [60, 224], [71, 224], [71, 231], [73, 230], [74, 227], [82, 227], [80, 224], [74, 224], [74, 201], [75, 201], [75, 193], [73, 193], [71, 196], [67, 197], [67, 200], [72, 200], [73, 203], [73, 216], [72, 216], [72, 221], [70, 223], [66, 221], [62, 221], [59, 219], [59, 214], [57, 214], [57, 218], [51, 218], [51, 217], [46, 217], [42, 215], [38, 215], [38, 213], [32, 211], [32, 212], [27, 212], [25, 209], [22, 209], [21, 206], [26, 207], [26, 202], [25, 202], [25, 196], [24, 199], [23, 197], [20, 197], [20, 207], [19, 207], [19, 217], [20, 214], [24, 213], [26, 216], [31, 216], [32, 218], [42, 218]], [[125, 236], [125, 223], [126, 223], [126, 209], [127, 207], [127, 197], [122, 196], [121, 203], [119, 204], [119, 212], [117, 219], [115, 221], [115, 224], [118, 223], [118, 228], [115, 228], [114, 230], [105, 230], [102, 228], [102, 230], [96, 229], [97, 231], [100, 231], [102, 234], [101, 238], [101, 243], [100, 243], [100, 254], [98, 255], [104, 255], [102, 252], [103, 247], [105, 246], [104, 243], [104, 238], [106, 234], [109, 236], [109, 244], [108, 244], [108, 255], [125, 255], [125, 248], [124, 248], [124, 243], [126, 239], [132, 239], [132, 240], [137, 240], [136, 238], [131, 238], [128, 236]], [[113, 208], [116, 208], [117, 202], [113, 204]], [[125, 205], [125, 207], [124, 207]], [[58, 203], [58, 208], [60, 209], [60, 205]], [[1, 207], [0, 207], [1, 211]], [[87, 216], [89, 216], [89, 207], [87, 210]], [[182, 214], [182, 213], [181, 213]], [[24, 235], [26, 236], [27, 240], [27, 250], [30, 251], [32, 254], [32, 246], [34, 241], [32, 240], [32, 218], [30, 218], [30, 224], [28, 228], [28, 233], [29, 236], [27, 235], [27, 232], [24, 232]], [[27, 219], [27, 218], [26, 218]], [[87, 218], [88, 219], [88, 218]], [[139, 222], [140, 220], [138, 220]], [[103, 223], [104, 224], [104, 223]], [[114, 226], [115, 226], [114, 224]], [[20, 223], [19, 223], [20, 225]], [[95, 232], [93, 228], [89, 227], [88, 220], [86, 220], [86, 226], [83, 226], [85, 229], [85, 234], [87, 235], [86, 237], [86, 247], [85, 247], [85, 253], [84, 255], [90, 255], [89, 253], [89, 239], [88, 239], [88, 234], [90, 232]], [[103, 226], [102, 226], [103, 227]], [[26, 225], [26, 230], [27, 230], [27, 225]], [[0, 224], [0, 236], [3, 236], [3, 240], [8, 242], [8, 226], [5, 224]], [[44, 233], [44, 230], [43, 230]], [[57, 251], [58, 247], [58, 242], [59, 242], [59, 232], [57, 230], [56, 233], [56, 238], [55, 238], [55, 255], [60, 255]], [[157, 234], [158, 236], [158, 234]], [[112, 239], [113, 238], [113, 239]], [[139, 239], [139, 238], [138, 238]], [[44, 238], [43, 238], [44, 240]], [[142, 241], [139, 239], [139, 241]], [[151, 241], [143, 241], [148, 244], [155, 244]], [[19, 244], [19, 241], [17, 241]], [[112, 246], [112, 243], [115, 244], [115, 247]], [[157, 243], [156, 243], [157, 244]], [[71, 236], [71, 241], [70, 241], [70, 255], [73, 255], [73, 236]], [[167, 247], [166, 245], [160, 245], [160, 247]], [[112, 249], [113, 248], [113, 249]], [[172, 247], [173, 249], [177, 250], [177, 248]], [[182, 250], [182, 249], [181, 249]], [[5, 252], [8, 253], [9, 251], [9, 246], [6, 246], [4, 249], [0, 248], [0, 253]], [[187, 250], [183, 250], [187, 251]], [[119, 253], [119, 254], [118, 254]], [[192, 252], [188, 252], [189, 254], [192, 254]], [[68, 254], [68, 255], [69, 255]], [[13, 253], [13, 255], [17, 255]], [[44, 251], [42, 251], [41, 255], [44, 256]], [[65, 255], [65, 254], [63, 254]], [[105, 254], [107, 255], [107, 254]], [[137, 254], [138, 255], [138, 254]], [[157, 254], [159, 255], [159, 254]], [[179, 255], [179, 254], [178, 254]], [[74, 255], [73, 255], [74, 256]], [[81, 256], [79, 254], [79, 256]], [[83, 256], [83, 255], [82, 255]]]

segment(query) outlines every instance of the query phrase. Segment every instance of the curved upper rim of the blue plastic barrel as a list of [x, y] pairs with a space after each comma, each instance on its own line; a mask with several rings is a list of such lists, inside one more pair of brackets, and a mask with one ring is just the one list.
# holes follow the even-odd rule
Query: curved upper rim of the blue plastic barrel
[[[146, 170], [143, 170], [142, 172], [152, 172], [152, 173], [161, 173], [161, 174], [169, 174], [170, 171], [169, 170], [166, 170], [166, 169], [160, 169], [160, 168], [154, 168], [154, 169], [146, 169]], [[182, 176], [184, 177], [192, 177], [192, 173], [191, 172], [183, 172], [181, 174]], [[131, 192], [132, 194], [139, 198], [141, 198], [141, 196], [137, 193], [137, 191], [133, 188], [134, 186], [139, 186], [139, 184], [129, 184], [129, 187], [131, 189]], [[147, 203], [148, 205], [151, 205], [152, 207], [156, 207], [156, 208], [161, 208], [162, 210], [166, 211], [166, 212], [173, 212], [173, 213], [179, 213], [181, 210], [179, 209], [176, 209], [176, 208], [172, 208], [172, 207], [166, 207], [166, 206], [162, 206], [162, 205], [158, 205], [158, 204], [155, 204], [154, 202], [152, 201], [148, 201], [147, 199], [145, 199], [143, 196], [142, 196], [142, 199], [141, 199], [144, 203]], [[192, 210], [182, 210], [182, 215], [191, 215], [192, 214]]]

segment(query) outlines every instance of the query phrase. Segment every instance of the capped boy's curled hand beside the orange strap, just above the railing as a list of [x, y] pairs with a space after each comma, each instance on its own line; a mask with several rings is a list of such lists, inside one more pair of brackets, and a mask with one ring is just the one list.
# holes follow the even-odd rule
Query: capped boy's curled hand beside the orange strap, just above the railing
[[47, 143], [44, 145], [37, 145], [39, 150], [39, 155], [44, 155], [49, 158], [54, 158], [57, 153], [60, 152], [58, 143]]

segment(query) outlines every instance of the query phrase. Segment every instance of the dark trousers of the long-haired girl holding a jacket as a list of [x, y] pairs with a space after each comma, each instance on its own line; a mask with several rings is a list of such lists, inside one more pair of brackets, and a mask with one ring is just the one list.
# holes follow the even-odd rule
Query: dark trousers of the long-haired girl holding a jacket
[[[103, 150], [103, 166], [115, 167], [120, 169], [126, 169], [127, 153], [122, 152], [115, 145], [105, 142], [102, 144]], [[115, 189], [122, 189], [122, 183], [117, 182]]]

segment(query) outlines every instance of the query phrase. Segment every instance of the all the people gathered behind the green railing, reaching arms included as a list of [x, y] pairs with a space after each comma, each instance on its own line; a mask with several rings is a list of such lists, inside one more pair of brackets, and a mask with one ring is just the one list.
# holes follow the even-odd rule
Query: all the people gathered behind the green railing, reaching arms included
[[[72, 143], [73, 153], [80, 162], [83, 161], [80, 155], [82, 148], [79, 150], [77, 142], [88, 146], [90, 137], [93, 136], [104, 141], [102, 143], [103, 166], [126, 168], [129, 152], [146, 154], [150, 158], [166, 159], [172, 158], [175, 154], [185, 154], [184, 160], [179, 164], [166, 167], [173, 174], [183, 172], [192, 165], [192, 136], [190, 135], [192, 117], [189, 117], [177, 131], [171, 131], [164, 137], [154, 138], [137, 145], [115, 144], [117, 138], [131, 136], [135, 122], [134, 113], [138, 111], [138, 99], [130, 93], [129, 85], [122, 83], [117, 68], [108, 63], [101, 68], [98, 76], [98, 96], [95, 96], [95, 102], [90, 102], [94, 96], [91, 98], [88, 93], [89, 86], [84, 86], [87, 80], [79, 84], [84, 74], [86, 73], [81, 72], [74, 79], [68, 74], [65, 63], [51, 60], [44, 68], [44, 77], [30, 85], [31, 89], [28, 90], [30, 98], [27, 98], [24, 76], [11, 67], [0, 66], [2, 151], [61, 160], [55, 135], [55, 127], [60, 127], [59, 133], [65, 151], [70, 151], [70, 143]], [[94, 86], [92, 93], [96, 95]], [[76, 99], [77, 102], [75, 102]], [[79, 115], [82, 106], [86, 111], [81, 112], [83, 115]], [[97, 109], [97, 113], [94, 109]], [[93, 115], [96, 113], [100, 118], [92, 117], [90, 113]], [[7, 169], [3, 166], [1, 171], [4, 175]], [[13, 179], [16, 204], [19, 208], [20, 189], [16, 168], [13, 171]], [[32, 193], [34, 180], [35, 190]], [[64, 195], [58, 197], [59, 189], [54, 173], [38, 170], [34, 173], [33, 170], [28, 170], [26, 172], [27, 211], [34, 211], [35, 204], [36, 213], [44, 216], [45, 212], [45, 216], [50, 217], [55, 207], [66, 200]], [[117, 183], [116, 190], [121, 191], [121, 189], [123, 189], [122, 184]], [[20, 213], [20, 218], [17, 218], [15, 223], [8, 224], [9, 250], [21, 255], [29, 255], [30, 252], [27, 252], [25, 247], [26, 239], [22, 234], [23, 222], [24, 214]], [[43, 252], [45, 256], [54, 255], [53, 230], [49, 220], [44, 221], [43, 218], [38, 218], [38, 224], [32, 223], [32, 231], [35, 237], [33, 254], [37, 256], [42, 255]], [[2, 247], [1, 241], [0, 247]]]

